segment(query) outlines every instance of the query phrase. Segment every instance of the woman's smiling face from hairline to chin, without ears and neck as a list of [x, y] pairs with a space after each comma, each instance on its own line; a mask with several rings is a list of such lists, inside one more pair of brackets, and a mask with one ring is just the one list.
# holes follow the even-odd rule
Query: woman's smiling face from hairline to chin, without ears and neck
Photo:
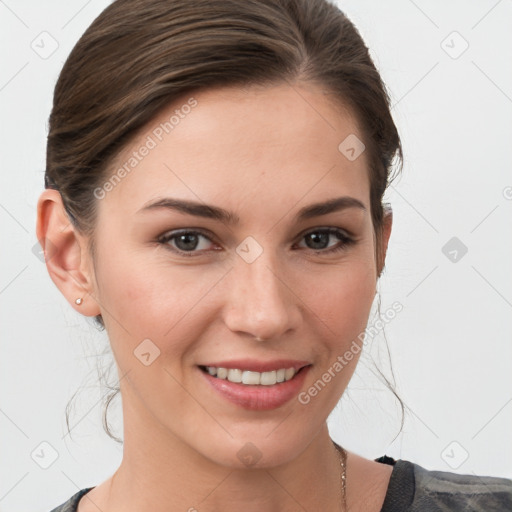
[[340, 152], [349, 135], [363, 139], [316, 86], [222, 88], [118, 155], [121, 179], [97, 191], [93, 294], [125, 433], [242, 467], [290, 460], [325, 427], [377, 276], [368, 161]]

